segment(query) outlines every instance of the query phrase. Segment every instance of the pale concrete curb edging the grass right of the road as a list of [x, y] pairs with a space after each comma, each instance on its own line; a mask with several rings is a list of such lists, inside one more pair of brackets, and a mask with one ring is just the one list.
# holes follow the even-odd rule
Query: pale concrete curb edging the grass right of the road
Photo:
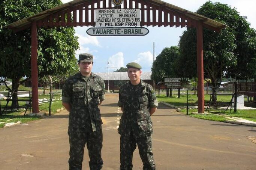
[[[171, 108], [177, 108], [177, 111], [181, 112], [181, 107], [176, 107], [176, 106], [171, 105], [171, 104], [166, 103], [166, 102], [160, 102], [160, 103], [163, 103], [164, 105], [169, 106]], [[191, 108], [193, 108], [193, 107], [191, 107]], [[193, 113], [193, 114], [196, 114], [196, 113]], [[208, 114], [208, 113], [205, 113], [205, 114]], [[224, 115], [220, 115], [220, 116], [225, 117]], [[244, 126], [256, 126], [256, 122], [254, 122], [254, 121], [249, 121], [249, 120], [246, 120], [246, 119], [235, 118], [235, 117], [225, 117], [225, 118], [233, 119], [233, 120], [225, 120], [224, 121], [225, 123], [239, 124], [239, 125], [244, 125]]]

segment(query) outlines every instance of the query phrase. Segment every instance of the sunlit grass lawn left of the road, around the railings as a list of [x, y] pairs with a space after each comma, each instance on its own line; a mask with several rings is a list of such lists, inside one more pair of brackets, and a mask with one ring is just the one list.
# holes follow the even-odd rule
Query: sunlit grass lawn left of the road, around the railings
[[[60, 99], [60, 96], [61, 96], [60, 94], [55, 94], [54, 98]], [[39, 99], [44, 99], [44, 98], [49, 99], [50, 95], [39, 95]], [[56, 113], [57, 109], [60, 109], [61, 107], [63, 107], [61, 103], [62, 103], [61, 100], [56, 100], [56, 102], [52, 102], [51, 114]], [[19, 105], [23, 105], [23, 104], [25, 104], [25, 102], [19, 102]], [[1, 100], [1, 108], [3, 108], [5, 105], [6, 105], [6, 101]], [[10, 103], [10, 105], [11, 105], [11, 103]], [[42, 106], [39, 106], [39, 111], [48, 113], [49, 112], [49, 103], [44, 103]], [[24, 116], [24, 112], [25, 111], [22, 109], [19, 109], [19, 111], [8, 111], [6, 113], [6, 115], [0, 116], [0, 122], [16, 123], [18, 121], [21, 121], [21, 123], [26, 123], [29, 121], [40, 119], [40, 117], [37, 117], [37, 116], [34, 116], [34, 117], [27, 116], [27, 115]], [[27, 110], [26, 114], [28, 114], [28, 113], [29, 113], [29, 109]], [[3, 126], [4, 126], [4, 124], [0, 124], [0, 128]]]

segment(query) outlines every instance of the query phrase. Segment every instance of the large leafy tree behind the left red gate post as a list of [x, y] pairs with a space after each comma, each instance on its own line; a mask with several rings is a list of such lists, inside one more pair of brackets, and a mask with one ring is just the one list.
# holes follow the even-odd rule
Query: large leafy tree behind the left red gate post
[[[13, 33], [4, 26], [58, 6], [62, 2], [60, 0], [0, 2], [0, 77], [12, 78], [12, 91], [17, 91], [21, 77], [31, 77], [31, 30]], [[75, 58], [75, 51], [79, 48], [74, 29], [39, 28], [37, 33], [39, 76], [64, 74], [69, 69], [69, 61]], [[12, 102], [12, 106], [18, 106], [18, 102]]]

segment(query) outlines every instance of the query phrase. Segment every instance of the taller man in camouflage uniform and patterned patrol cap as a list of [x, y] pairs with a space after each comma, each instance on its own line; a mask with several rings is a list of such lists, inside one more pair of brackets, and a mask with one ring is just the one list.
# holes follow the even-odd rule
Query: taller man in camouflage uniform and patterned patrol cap
[[105, 100], [105, 84], [91, 72], [91, 54], [80, 54], [78, 65], [80, 71], [65, 82], [62, 90], [62, 104], [69, 111], [69, 170], [82, 169], [85, 143], [90, 170], [100, 170], [102, 120], [98, 106]]

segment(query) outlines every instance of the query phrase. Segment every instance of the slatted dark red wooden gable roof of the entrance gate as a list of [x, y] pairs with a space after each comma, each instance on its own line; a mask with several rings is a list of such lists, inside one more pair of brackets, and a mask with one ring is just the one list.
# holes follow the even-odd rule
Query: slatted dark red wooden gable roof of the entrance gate
[[[141, 10], [141, 26], [196, 27], [196, 23], [199, 21], [203, 23], [203, 27], [218, 32], [226, 27], [225, 24], [213, 19], [160, 0], [123, 0], [122, 6], [119, 6], [119, 9]], [[112, 5], [111, 0], [73, 0], [13, 22], [6, 25], [6, 27], [18, 32], [29, 28], [33, 21], [36, 21], [37, 27], [49, 28], [58, 26], [95, 26], [95, 9], [115, 9], [115, 6]], [[73, 20], [73, 18], [76, 19]]]

